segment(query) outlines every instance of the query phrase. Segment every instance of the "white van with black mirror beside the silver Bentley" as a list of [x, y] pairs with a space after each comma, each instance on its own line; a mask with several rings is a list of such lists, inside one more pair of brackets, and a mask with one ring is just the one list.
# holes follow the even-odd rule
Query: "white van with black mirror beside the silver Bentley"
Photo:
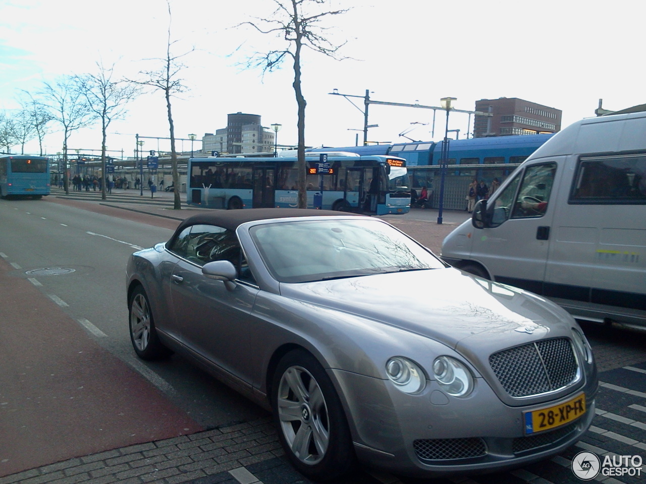
[[442, 257], [575, 317], [646, 327], [646, 112], [557, 133], [444, 239]]

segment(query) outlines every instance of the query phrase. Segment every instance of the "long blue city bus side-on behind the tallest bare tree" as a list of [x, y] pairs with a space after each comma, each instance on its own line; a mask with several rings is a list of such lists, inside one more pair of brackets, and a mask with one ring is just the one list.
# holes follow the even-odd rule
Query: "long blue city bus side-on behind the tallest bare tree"
[[[410, 210], [406, 161], [391, 156], [306, 159], [307, 208], [364, 214]], [[187, 203], [208, 208], [287, 208], [298, 205], [296, 157], [191, 158]]]

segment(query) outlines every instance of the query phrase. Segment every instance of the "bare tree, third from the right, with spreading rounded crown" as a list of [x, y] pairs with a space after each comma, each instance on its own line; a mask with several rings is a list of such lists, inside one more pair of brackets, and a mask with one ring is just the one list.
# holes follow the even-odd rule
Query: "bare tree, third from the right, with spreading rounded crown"
[[105, 185], [107, 183], [107, 164], [105, 150], [108, 126], [115, 119], [123, 119], [128, 112], [125, 105], [132, 101], [140, 92], [137, 86], [123, 81], [113, 81], [114, 64], [105, 68], [97, 63], [97, 74], [78, 76], [78, 83], [87, 99], [88, 106], [94, 115], [101, 121], [101, 199], [105, 200]]

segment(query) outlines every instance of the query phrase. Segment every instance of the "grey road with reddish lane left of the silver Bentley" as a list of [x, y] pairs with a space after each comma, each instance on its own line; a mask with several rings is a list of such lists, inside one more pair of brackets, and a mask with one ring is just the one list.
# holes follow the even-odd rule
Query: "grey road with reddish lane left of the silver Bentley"
[[134, 357], [125, 261], [178, 221], [75, 205], [0, 203], [0, 475], [266, 416], [181, 358]]

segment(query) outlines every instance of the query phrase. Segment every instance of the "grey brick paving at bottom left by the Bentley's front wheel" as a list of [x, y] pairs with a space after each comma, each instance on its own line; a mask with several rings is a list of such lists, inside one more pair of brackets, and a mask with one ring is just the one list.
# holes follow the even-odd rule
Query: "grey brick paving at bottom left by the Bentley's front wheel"
[[81, 456], [0, 478], [0, 484], [309, 482], [280, 456], [266, 418]]

